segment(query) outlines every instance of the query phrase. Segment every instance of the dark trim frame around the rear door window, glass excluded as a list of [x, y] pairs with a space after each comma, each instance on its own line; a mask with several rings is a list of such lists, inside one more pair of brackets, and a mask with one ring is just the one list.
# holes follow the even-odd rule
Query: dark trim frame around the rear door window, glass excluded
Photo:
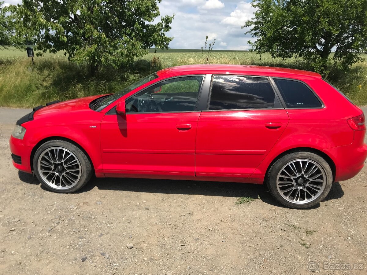
[[[216, 76], [241, 76], [241, 77], [257, 77], [257, 78], [267, 78], [270, 84], [270, 87], [272, 87], [273, 92], [275, 94], [275, 99], [278, 100], [279, 106], [277, 108], [248, 108], [248, 109], [225, 109], [225, 110], [209, 110], [210, 107], [210, 98], [211, 98], [211, 91], [213, 87], [213, 81], [214, 77]], [[282, 99], [283, 100], [283, 99]], [[250, 110], [284, 110], [284, 103], [282, 102], [281, 98], [279, 97], [279, 94], [275, 90], [274, 84], [272, 83], [269, 76], [256, 76], [256, 75], [247, 75], [247, 74], [212, 74], [210, 87], [209, 87], [209, 93], [208, 93], [208, 99], [207, 99], [207, 106], [206, 109], [203, 110], [203, 112], [225, 112], [225, 111], [250, 111]], [[276, 101], [274, 100], [274, 106], [276, 105]]]

